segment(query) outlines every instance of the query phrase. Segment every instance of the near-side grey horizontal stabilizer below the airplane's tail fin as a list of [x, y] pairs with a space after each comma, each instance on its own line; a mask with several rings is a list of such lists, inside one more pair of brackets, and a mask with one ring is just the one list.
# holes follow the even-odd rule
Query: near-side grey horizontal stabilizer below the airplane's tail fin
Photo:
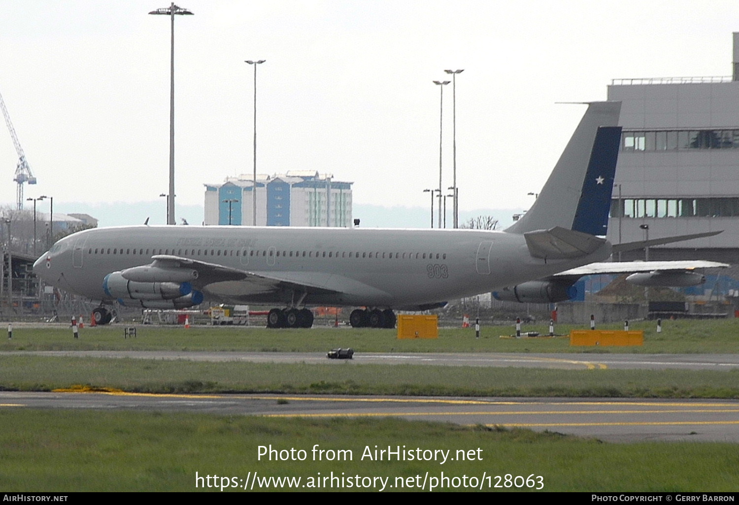
[[528, 253], [534, 258], [579, 258], [598, 250], [605, 238], [556, 226], [551, 230], [524, 233]]

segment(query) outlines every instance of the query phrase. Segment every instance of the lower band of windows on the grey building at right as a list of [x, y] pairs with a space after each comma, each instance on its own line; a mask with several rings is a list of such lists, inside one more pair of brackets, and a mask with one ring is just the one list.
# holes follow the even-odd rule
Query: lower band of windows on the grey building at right
[[613, 199], [611, 217], [736, 217], [739, 198]]

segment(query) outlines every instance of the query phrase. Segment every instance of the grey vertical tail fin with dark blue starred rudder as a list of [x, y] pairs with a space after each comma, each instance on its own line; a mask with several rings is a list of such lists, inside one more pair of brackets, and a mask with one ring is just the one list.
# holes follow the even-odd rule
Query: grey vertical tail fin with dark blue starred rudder
[[621, 102], [588, 103], [536, 202], [506, 232], [562, 227], [605, 236], [621, 142], [620, 111]]

